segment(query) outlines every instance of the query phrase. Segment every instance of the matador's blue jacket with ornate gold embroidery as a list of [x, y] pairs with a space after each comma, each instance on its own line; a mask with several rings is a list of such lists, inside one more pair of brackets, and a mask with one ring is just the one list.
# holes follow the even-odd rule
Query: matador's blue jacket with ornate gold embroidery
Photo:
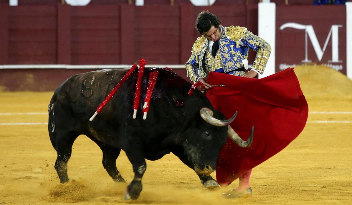
[[[249, 48], [257, 52], [252, 70], [263, 74], [271, 52], [270, 44], [245, 27], [230, 26], [224, 28], [221, 26], [221, 31], [219, 50], [215, 58], [209, 52], [209, 40], [204, 36], [197, 38], [192, 46], [192, 55], [185, 65], [187, 76], [193, 82], [196, 82], [198, 78], [206, 78], [210, 71], [220, 68], [225, 73], [241, 75], [244, 72], [239, 73], [235, 70], [244, 67], [244, 62], [247, 63]], [[203, 58], [206, 62], [205, 68], [202, 65]]]

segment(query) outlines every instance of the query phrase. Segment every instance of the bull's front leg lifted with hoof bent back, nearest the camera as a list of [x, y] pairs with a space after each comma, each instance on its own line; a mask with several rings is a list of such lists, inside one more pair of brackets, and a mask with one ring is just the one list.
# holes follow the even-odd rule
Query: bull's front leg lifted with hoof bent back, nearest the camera
[[142, 191], [142, 177], [147, 168], [147, 164], [145, 163], [142, 154], [137, 153], [136, 150], [138, 149], [126, 152], [126, 155], [133, 167], [134, 178], [132, 182], [127, 186], [124, 195], [125, 200], [137, 199], [139, 197], [140, 192]]

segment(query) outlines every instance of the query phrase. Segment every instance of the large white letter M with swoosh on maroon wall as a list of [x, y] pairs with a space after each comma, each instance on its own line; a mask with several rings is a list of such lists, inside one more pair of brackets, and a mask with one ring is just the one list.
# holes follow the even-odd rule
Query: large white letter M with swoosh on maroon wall
[[305, 59], [302, 60], [302, 62], [312, 62], [312, 60], [308, 59], [308, 36], [310, 41], [312, 42], [314, 51], [316, 53], [316, 56], [318, 57], [318, 60], [321, 61], [323, 58], [323, 54], [325, 52], [326, 46], [330, 40], [330, 37], [332, 39], [332, 57], [331, 60], [328, 62], [342, 62], [339, 60], [339, 28], [342, 27], [342, 25], [332, 25], [328, 34], [328, 37], [325, 40], [325, 44], [323, 46], [323, 49], [321, 49], [320, 44], [318, 42], [318, 38], [316, 38], [314, 29], [312, 25], [302, 25], [302, 24], [296, 24], [296, 23], [286, 23], [283, 24], [280, 27], [280, 30], [285, 29], [285, 28], [295, 28], [295, 29], [302, 29], [305, 30], [305, 42], [306, 42], [306, 56]]

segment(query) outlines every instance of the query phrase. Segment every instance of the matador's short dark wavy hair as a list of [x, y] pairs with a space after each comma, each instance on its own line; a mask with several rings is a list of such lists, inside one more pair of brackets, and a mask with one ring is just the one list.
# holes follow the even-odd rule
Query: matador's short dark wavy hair
[[221, 22], [218, 16], [210, 13], [209, 11], [202, 11], [197, 16], [195, 27], [199, 34], [203, 35], [203, 33], [209, 31], [212, 26], [217, 28], [220, 24]]

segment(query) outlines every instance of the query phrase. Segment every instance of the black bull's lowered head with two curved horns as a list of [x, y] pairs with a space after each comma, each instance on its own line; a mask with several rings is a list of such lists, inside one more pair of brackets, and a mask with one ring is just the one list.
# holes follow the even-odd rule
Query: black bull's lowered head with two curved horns
[[[228, 120], [219, 120], [213, 115], [213, 111], [209, 108], [202, 108], [200, 116], [203, 123], [190, 128], [190, 137], [184, 143], [184, 152], [188, 157], [189, 166], [198, 174], [209, 175], [215, 171], [220, 150], [227, 140], [226, 136], [240, 147], [249, 147], [252, 144], [253, 127], [250, 137], [244, 141], [229, 125], [235, 119], [237, 112]], [[221, 118], [219, 112], [217, 115]]]

